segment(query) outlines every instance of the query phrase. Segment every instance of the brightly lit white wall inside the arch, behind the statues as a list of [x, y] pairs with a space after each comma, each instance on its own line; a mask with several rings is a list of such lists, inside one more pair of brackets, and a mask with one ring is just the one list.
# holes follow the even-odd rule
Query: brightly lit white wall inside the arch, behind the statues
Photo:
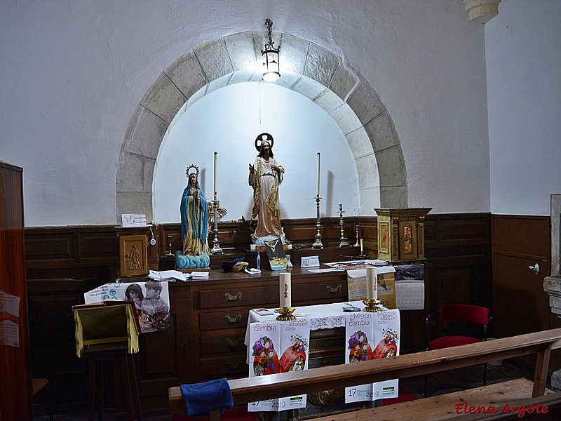
[[250, 219], [248, 164], [257, 156], [259, 133], [273, 135], [274, 158], [285, 168], [279, 187], [281, 218], [316, 215], [317, 152], [321, 154], [321, 215], [338, 216], [339, 203], [347, 216], [359, 215], [355, 161], [333, 119], [295, 91], [270, 83], [236, 83], [195, 102], [166, 134], [152, 189], [156, 222], [180, 222], [185, 169], [191, 163], [201, 168], [201, 187], [206, 199], [212, 200], [214, 152], [218, 152], [217, 196], [228, 210], [223, 220], [242, 215]]

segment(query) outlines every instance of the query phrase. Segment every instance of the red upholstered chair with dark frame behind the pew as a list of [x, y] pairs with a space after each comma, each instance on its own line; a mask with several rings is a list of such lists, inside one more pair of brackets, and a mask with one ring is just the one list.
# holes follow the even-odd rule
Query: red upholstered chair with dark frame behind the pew
[[[474, 344], [487, 340], [491, 310], [478, 305], [442, 304], [440, 312], [429, 314], [426, 318], [426, 350], [444, 349], [458, 345]], [[437, 389], [465, 389], [464, 386], [447, 385], [437, 387], [427, 393], [427, 380], [424, 380], [424, 394], [431, 396]], [[483, 364], [483, 385], [487, 385], [487, 363]]]

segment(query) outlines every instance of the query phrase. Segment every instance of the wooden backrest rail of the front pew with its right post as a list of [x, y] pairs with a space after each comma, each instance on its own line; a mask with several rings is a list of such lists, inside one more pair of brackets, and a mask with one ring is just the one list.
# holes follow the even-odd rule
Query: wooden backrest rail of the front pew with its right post
[[[545, 394], [550, 353], [552, 349], [558, 348], [561, 348], [561, 328], [460, 347], [434, 349], [392, 358], [364, 361], [360, 364], [343, 364], [260, 377], [246, 377], [229, 380], [229, 385], [234, 397], [234, 405], [241, 405], [255, 401], [255, 396], [259, 396], [260, 400], [276, 399], [283, 396], [342, 389], [343, 387], [395, 378], [403, 379], [438, 373], [499, 359], [536, 354], [536, 370], [531, 393], [532, 398], [536, 398]], [[170, 413], [185, 413], [180, 387], [170, 387], [168, 395]], [[527, 397], [523, 392], [518, 394], [518, 398]], [[436, 398], [438, 396], [435, 396]], [[417, 405], [424, 400], [419, 399]], [[403, 408], [403, 404], [398, 403], [394, 406], [402, 406]], [[438, 409], [438, 406], [433, 406], [433, 408]], [[357, 412], [362, 411], [353, 412], [353, 418]], [[213, 411], [210, 415], [211, 420], [219, 420], [218, 410]], [[346, 415], [346, 419], [349, 419], [349, 414]], [[335, 418], [328, 417], [328, 419], [334, 420]], [[466, 418], [463, 419], [467, 420]]]

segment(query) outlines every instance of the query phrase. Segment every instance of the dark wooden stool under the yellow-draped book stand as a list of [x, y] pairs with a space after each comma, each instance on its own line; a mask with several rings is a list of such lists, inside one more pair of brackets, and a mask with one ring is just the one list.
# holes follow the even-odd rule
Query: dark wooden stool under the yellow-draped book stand
[[[123, 382], [123, 392], [125, 394], [128, 420], [134, 421], [134, 412], [136, 410], [137, 419], [142, 421], [142, 413], [140, 410], [140, 396], [138, 394], [138, 384], [136, 379], [135, 361], [133, 354], [128, 353], [127, 342], [115, 342], [99, 345], [88, 345], [83, 353], [83, 357], [88, 359], [90, 372], [90, 396], [88, 420], [95, 420], [95, 401], [97, 387], [100, 387], [100, 420], [104, 419], [104, 392], [103, 392], [103, 361], [112, 361], [115, 373], [115, 395], [117, 396], [117, 384], [119, 377], [117, 373], [121, 370], [121, 380]], [[101, 370], [99, 380], [97, 379], [97, 363], [100, 363]], [[131, 381], [131, 375], [133, 377]], [[136, 406], [136, 408], [134, 407]]]

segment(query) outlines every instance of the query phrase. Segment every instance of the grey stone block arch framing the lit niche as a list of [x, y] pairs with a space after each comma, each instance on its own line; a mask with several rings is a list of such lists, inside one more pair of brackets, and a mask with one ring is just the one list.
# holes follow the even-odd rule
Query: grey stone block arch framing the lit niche
[[[407, 207], [407, 171], [393, 120], [366, 78], [331, 51], [298, 36], [280, 39], [280, 86], [316, 102], [339, 125], [355, 158], [360, 207], [379, 189], [382, 208]], [[177, 58], [152, 83], [130, 119], [116, 173], [116, 216], [142, 211], [152, 219], [152, 179], [161, 142], [174, 117], [231, 83], [260, 81], [264, 31], [208, 41]], [[374, 171], [379, 185], [375, 185]]]

